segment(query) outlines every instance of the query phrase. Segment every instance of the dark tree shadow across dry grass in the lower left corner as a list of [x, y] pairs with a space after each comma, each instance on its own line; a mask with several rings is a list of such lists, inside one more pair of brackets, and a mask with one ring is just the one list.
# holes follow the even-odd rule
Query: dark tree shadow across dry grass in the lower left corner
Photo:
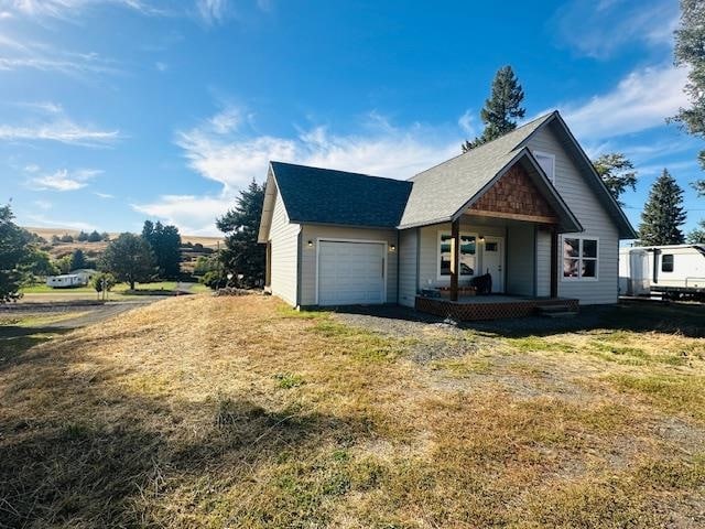
[[[365, 418], [273, 410], [242, 398], [130, 396], [101, 377], [82, 384], [67, 360], [46, 359], [55, 364], [52, 388], [35, 379], [0, 390], [8, 404], [0, 412], [0, 527], [161, 526], [172, 506], [160, 498], [174, 488], [204, 494], [203, 484], [246, 479], [282, 453], [305, 457], [375, 430]], [[13, 403], [47, 389], [51, 402], [41, 414], [13, 413]]]

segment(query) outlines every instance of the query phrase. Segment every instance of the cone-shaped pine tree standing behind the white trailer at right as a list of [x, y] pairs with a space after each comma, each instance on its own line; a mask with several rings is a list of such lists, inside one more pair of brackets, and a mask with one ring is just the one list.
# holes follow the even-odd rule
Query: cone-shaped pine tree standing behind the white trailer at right
[[657, 179], [641, 214], [639, 238], [644, 246], [681, 245], [685, 223], [683, 190], [666, 169]]

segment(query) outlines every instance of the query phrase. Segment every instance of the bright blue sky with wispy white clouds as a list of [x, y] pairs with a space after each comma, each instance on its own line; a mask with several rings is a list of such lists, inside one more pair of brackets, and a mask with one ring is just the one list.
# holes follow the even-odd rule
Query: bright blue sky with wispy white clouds
[[0, 202], [26, 226], [215, 235], [270, 159], [406, 179], [481, 131], [511, 64], [527, 118], [557, 108], [590, 155], [619, 150], [638, 225], [668, 166], [692, 228], [701, 142], [673, 1], [0, 0]]

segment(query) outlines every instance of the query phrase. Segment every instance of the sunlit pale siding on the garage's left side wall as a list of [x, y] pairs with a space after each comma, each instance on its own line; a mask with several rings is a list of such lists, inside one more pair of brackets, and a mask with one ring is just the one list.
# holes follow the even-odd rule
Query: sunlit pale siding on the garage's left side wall
[[296, 304], [296, 272], [299, 230], [301, 226], [290, 224], [281, 194], [276, 193], [270, 229], [271, 289], [272, 294], [291, 305]]

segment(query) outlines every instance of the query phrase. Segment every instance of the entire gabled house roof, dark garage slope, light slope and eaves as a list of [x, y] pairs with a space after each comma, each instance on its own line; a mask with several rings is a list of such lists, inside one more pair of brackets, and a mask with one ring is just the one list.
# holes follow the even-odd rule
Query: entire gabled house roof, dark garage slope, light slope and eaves
[[517, 163], [524, 166], [558, 215], [561, 230], [582, 231], [579, 222], [527, 148], [531, 137], [549, 126], [586, 176], [587, 184], [618, 227], [619, 236], [634, 238], [623, 212], [558, 112], [553, 111], [405, 182], [271, 162], [260, 241], [267, 240], [276, 190], [291, 223], [411, 228], [454, 220]]

